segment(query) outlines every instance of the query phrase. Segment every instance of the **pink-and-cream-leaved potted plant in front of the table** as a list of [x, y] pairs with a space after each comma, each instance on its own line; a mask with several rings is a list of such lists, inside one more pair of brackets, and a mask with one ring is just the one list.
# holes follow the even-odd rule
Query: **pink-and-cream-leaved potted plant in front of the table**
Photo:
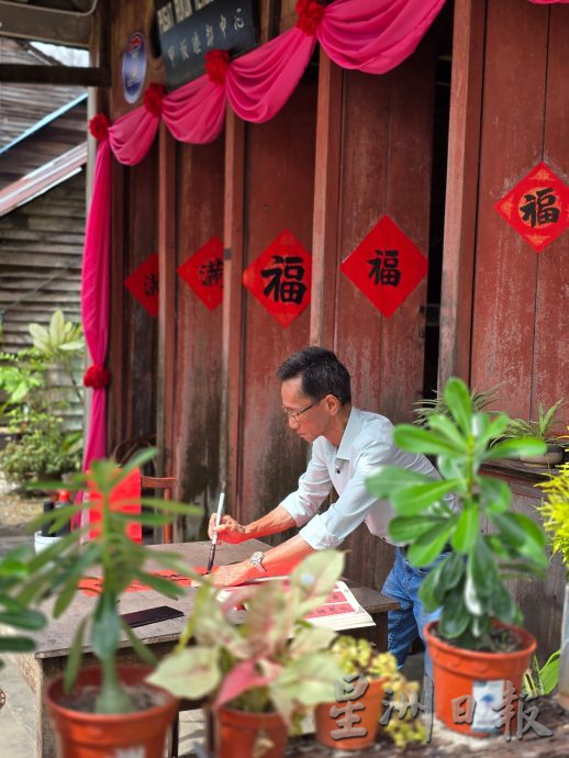
[[177, 696], [208, 696], [216, 758], [278, 758], [302, 711], [332, 699], [343, 676], [328, 649], [336, 633], [304, 616], [330, 595], [343, 565], [341, 553], [321, 550], [287, 578], [198, 590], [177, 648], [149, 681]]

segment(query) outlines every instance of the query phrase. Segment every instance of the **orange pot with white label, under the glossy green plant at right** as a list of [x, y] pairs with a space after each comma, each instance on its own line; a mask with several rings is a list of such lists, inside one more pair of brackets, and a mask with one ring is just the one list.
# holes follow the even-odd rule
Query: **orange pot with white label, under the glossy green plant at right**
[[[431, 622], [425, 627], [425, 639], [433, 661], [435, 715], [461, 734], [472, 737], [495, 735], [501, 731], [498, 722], [503, 711], [493, 709], [503, 704], [506, 682], [512, 682], [515, 694], [520, 695], [524, 671], [529, 667], [537, 647], [535, 637], [518, 626], [499, 624], [510, 629], [520, 649], [513, 653], [481, 653], [454, 647], [439, 639], [433, 634], [437, 624], [436, 621]], [[471, 699], [465, 700], [466, 695]], [[475, 703], [473, 712], [470, 712], [470, 705]], [[515, 715], [510, 722], [512, 732], [516, 728], [518, 703], [518, 700], [513, 703]]]

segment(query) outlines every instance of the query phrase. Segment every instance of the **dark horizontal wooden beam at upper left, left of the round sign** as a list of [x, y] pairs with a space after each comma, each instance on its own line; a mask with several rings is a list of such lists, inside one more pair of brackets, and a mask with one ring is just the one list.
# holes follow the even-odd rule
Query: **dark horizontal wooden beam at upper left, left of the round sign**
[[0, 82], [65, 87], [110, 87], [111, 69], [108, 66], [93, 68], [90, 66], [0, 64]]

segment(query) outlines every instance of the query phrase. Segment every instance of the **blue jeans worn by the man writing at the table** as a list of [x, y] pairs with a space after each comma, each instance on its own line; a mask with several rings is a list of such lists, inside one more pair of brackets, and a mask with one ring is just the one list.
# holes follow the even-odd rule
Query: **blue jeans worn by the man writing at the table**
[[[406, 559], [406, 555], [401, 547], [395, 548], [395, 560], [389, 572], [381, 592], [388, 598], [393, 598], [399, 602], [399, 611], [388, 612], [388, 650], [392, 653], [398, 661], [399, 668], [405, 662], [409, 649], [413, 640], [421, 636], [423, 643], [423, 629], [429, 621], [436, 621], [440, 615], [440, 610], [426, 613], [423, 603], [419, 599], [419, 590], [426, 575], [447, 554], [443, 553], [433, 564], [425, 568], [415, 568]], [[431, 657], [425, 646], [425, 675], [432, 678]]]

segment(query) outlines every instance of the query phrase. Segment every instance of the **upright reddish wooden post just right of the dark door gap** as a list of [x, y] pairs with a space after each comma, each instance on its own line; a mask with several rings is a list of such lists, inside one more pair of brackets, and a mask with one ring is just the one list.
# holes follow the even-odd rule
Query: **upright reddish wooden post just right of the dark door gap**
[[438, 387], [470, 380], [486, 1], [456, 0], [440, 293]]

